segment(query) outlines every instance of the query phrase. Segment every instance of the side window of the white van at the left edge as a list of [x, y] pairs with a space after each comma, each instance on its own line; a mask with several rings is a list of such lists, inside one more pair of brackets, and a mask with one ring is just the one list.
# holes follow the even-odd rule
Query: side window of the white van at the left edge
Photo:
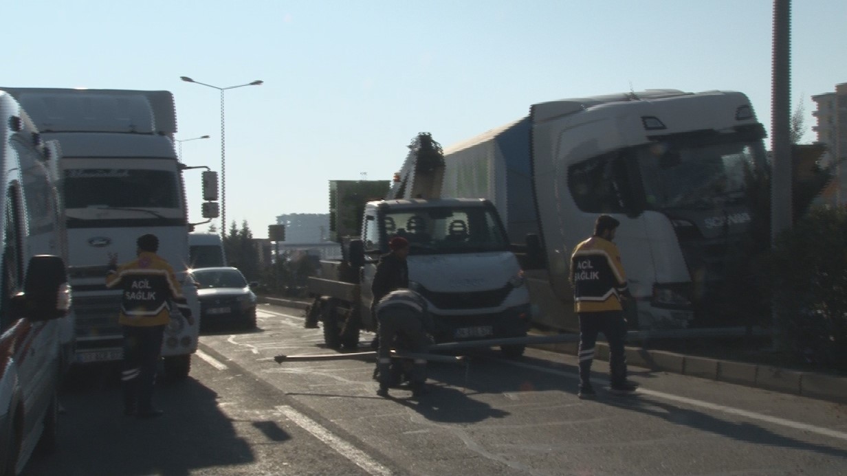
[[24, 279], [20, 235], [21, 202], [17, 184], [9, 187], [6, 204], [3, 216], [3, 258], [0, 260], [0, 327], [3, 330], [14, 322], [14, 316], [8, 314], [8, 302], [20, 290]]

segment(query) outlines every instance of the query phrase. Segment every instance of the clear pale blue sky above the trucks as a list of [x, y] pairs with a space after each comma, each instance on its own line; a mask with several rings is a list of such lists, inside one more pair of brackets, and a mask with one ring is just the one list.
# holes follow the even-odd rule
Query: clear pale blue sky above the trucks
[[[328, 180], [390, 180], [418, 132], [448, 147], [534, 102], [634, 89], [743, 91], [771, 125], [771, 0], [42, 0], [3, 4], [0, 84], [168, 90], [188, 165], [220, 170], [253, 235], [326, 213]], [[847, 2], [794, 1], [791, 90], [847, 82]], [[192, 221], [200, 171], [187, 172]], [[215, 220], [219, 222], [219, 220]], [[201, 230], [205, 230], [203, 225]]]

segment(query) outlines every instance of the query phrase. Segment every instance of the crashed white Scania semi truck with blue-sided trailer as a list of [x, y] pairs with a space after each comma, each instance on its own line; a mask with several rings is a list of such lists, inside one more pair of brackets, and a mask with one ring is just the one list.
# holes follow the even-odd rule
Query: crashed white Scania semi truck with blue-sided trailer
[[735, 91], [542, 102], [448, 147], [440, 192], [487, 198], [512, 241], [529, 235], [543, 257], [527, 270], [537, 324], [579, 329], [570, 255], [609, 213], [640, 329], [741, 325], [716, 317], [717, 290], [745, 258], [745, 170], [765, 163], [764, 136]]

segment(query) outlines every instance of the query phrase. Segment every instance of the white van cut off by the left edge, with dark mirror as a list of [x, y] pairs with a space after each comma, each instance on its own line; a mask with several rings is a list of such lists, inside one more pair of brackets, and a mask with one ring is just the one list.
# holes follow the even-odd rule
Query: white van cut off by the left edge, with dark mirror
[[56, 445], [70, 291], [45, 150], [18, 102], [0, 91], [0, 474], [20, 473], [36, 446]]

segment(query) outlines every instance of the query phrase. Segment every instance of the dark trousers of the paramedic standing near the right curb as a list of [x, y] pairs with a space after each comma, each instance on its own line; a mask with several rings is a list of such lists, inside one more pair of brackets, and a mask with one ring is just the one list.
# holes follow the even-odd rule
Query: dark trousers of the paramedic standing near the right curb
[[612, 386], [623, 385], [627, 379], [627, 357], [623, 351], [627, 324], [623, 311], [579, 313], [579, 385], [591, 386], [591, 363], [594, 361], [594, 348], [600, 332], [609, 342]]

